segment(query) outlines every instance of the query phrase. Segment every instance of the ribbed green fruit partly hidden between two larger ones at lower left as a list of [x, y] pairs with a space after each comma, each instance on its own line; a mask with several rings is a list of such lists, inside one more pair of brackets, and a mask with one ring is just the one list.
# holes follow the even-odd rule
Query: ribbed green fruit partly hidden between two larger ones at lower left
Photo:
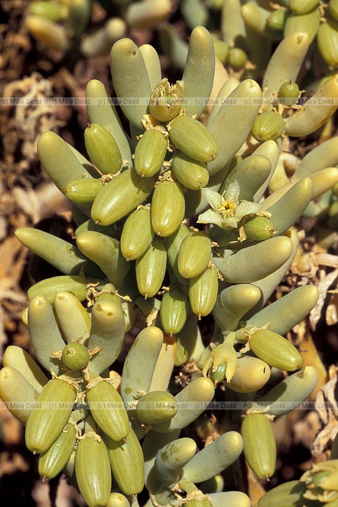
[[75, 427], [68, 422], [47, 451], [39, 456], [38, 470], [42, 477], [53, 479], [69, 461], [76, 443]]

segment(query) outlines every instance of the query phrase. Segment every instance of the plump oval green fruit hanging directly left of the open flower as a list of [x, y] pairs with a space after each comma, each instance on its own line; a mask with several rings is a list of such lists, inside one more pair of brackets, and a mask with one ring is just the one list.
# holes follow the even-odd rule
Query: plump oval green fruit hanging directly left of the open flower
[[179, 183], [164, 179], [154, 191], [152, 224], [158, 236], [171, 236], [184, 218], [184, 195]]

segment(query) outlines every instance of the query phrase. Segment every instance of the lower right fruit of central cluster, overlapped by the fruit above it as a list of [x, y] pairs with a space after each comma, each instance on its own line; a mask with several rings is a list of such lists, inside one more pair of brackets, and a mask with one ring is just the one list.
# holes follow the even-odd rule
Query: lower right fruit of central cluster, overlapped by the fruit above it
[[218, 274], [214, 265], [190, 279], [189, 299], [198, 318], [208, 315], [215, 306], [218, 292]]

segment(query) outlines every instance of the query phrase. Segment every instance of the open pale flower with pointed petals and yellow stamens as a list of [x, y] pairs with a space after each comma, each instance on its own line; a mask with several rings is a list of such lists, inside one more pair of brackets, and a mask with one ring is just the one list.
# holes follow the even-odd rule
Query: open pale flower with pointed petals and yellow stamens
[[199, 224], [216, 224], [225, 231], [237, 229], [244, 216], [255, 214], [261, 208], [255, 202], [238, 200], [240, 188], [237, 182], [231, 183], [222, 195], [208, 188], [202, 192], [211, 209], [199, 215]]

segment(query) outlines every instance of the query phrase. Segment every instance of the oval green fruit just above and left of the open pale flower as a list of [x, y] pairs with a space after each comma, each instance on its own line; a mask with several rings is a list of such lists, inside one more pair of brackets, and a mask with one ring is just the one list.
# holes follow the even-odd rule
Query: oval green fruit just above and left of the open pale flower
[[171, 159], [171, 170], [179, 183], [190, 190], [200, 190], [208, 185], [209, 173], [205, 162], [193, 160], [184, 153], [175, 153]]

